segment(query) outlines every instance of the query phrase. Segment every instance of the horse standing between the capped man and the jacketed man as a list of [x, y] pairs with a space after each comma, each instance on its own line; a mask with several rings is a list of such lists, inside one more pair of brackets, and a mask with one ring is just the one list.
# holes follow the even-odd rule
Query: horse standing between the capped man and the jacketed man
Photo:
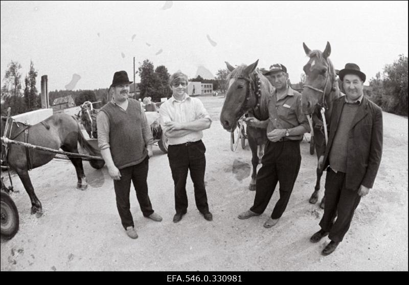
[[[316, 183], [314, 192], [309, 202], [315, 204], [320, 191], [320, 181], [323, 174], [322, 163], [326, 147], [328, 132], [325, 134], [327, 126], [330, 125], [333, 101], [344, 94], [339, 90], [336, 80], [336, 73], [329, 56], [331, 45], [327, 42], [324, 52], [319, 50], [311, 51], [303, 42], [305, 54], [309, 60], [303, 69], [306, 75], [302, 91], [302, 110], [306, 115], [311, 115], [314, 132], [315, 152], [317, 156]], [[324, 108], [324, 109], [323, 109]], [[324, 124], [323, 113], [326, 124]], [[324, 126], [327, 125], [327, 126]], [[320, 207], [324, 208], [325, 195], [321, 200]]]

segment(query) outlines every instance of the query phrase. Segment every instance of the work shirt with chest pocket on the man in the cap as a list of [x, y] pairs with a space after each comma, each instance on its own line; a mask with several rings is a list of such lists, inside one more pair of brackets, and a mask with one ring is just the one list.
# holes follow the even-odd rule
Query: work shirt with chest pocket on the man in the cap
[[[291, 129], [302, 125], [307, 132], [310, 126], [306, 115], [301, 109], [301, 94], [288, 87], [286, 96], [277, 100], [277, 89], [268, 101], [268, 125], [267, 133], [275, 129]], [[302, 140], [303, 135], [286, 136], [284, 139]]]

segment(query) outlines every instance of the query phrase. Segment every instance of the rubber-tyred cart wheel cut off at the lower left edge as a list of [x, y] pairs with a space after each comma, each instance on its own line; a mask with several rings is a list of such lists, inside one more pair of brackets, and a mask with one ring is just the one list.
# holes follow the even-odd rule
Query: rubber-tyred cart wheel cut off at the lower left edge
[[11, 239], [18, 231], [18, 211], [11, 197], [6, 192], [1, 192], [1, 234], [6, 239]]

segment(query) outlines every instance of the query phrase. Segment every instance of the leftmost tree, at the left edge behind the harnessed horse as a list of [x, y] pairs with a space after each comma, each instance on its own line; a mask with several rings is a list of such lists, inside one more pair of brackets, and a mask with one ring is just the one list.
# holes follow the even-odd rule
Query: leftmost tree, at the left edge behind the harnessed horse
[[4, 101], [1, 104], [0, 112], [2, 115], [7, 114], [7, 108], [11, 107], [11, 115], [24, 113], [26, 106], [21, 96], [21, 64], [16, 61], [11, 61], [6, 70], [3, 79], [3, 87], [1, 90], [1, 99]]

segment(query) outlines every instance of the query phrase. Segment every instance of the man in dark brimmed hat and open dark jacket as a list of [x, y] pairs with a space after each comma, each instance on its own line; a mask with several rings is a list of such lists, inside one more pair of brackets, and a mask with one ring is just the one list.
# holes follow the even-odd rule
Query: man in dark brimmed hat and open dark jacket
[[321, 230], [310, 239], [316, 243], [328, 235], [331, 242], [323, 255], [342, 242], [361, 197], [373, 187], [382, 155], [382, 110], [363, 96], [365, 74], [355, 63], [347, 63], [339, 79], [346, 96], [333, 104], [323, 163], [327, 169], [324, 215]]

